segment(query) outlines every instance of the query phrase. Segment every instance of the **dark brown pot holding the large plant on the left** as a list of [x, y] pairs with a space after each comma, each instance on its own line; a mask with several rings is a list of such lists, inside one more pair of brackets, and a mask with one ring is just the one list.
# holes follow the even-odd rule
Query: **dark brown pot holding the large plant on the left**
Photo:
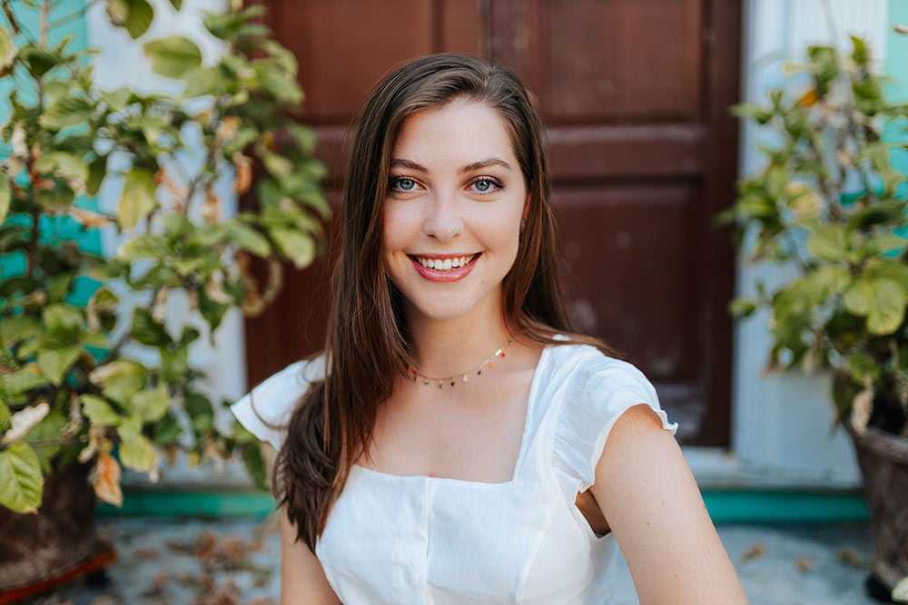
[[104, 550], [95, 532], [94, 491], [87, 477], [83, 464], [45, 475], [37, 514], [0, 506], [0, 593], [54, 581]]

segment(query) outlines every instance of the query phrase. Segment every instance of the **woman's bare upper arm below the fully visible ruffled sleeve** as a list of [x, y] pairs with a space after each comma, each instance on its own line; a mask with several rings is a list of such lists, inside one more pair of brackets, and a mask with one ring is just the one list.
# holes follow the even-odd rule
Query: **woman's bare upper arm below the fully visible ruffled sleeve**
[[618, 418], [590, 488], [648, 603], [746, 603], [675, 437], [646, 404]]

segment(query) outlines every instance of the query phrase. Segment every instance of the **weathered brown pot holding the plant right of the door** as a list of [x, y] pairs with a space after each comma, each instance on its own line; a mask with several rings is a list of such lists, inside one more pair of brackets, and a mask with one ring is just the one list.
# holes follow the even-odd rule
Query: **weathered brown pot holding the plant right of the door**
[[843, 423], [864, 476], [873, 547], [870, 574], [892, 590], [908, 576], [908, 439], [873, 426], [863, 435]]

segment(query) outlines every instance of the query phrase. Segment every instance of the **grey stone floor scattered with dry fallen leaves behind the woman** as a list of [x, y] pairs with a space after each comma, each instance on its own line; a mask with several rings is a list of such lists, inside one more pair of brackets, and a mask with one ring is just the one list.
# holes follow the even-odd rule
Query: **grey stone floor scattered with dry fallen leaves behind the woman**
[[[33, 605], [278, 603], [280, 539], [274, 522], [104, 520], [117, 561], [94, 586], [78, 581]], [[753, 605], [861, 605], [870, 532], [864, 524], [718, 526]], [[615, 605], [637, 603], [621, 561]]]

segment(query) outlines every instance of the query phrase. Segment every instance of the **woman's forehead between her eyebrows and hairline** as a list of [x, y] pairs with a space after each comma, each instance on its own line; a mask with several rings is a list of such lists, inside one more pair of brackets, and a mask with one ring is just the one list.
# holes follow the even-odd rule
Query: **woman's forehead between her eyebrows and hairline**
[[481, 102], [453, 101], [411, 113], [400, 127], [394, 159], [429, 168], [498, 157], [517, 166], [513, 140], [498, 111]]

